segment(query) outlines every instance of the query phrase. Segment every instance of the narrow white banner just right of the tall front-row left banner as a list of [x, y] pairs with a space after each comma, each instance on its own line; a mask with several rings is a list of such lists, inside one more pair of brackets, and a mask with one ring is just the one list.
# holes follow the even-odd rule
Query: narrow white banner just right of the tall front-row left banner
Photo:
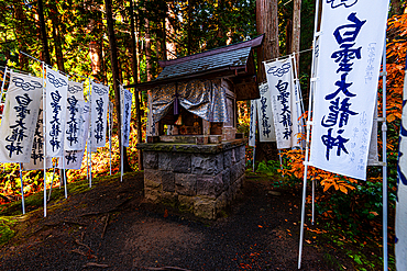
[[67, 110], [66, 110], [66, 123], [65, 123], [65, 150], [80, 150], [82, 138], [79, 137], [81, 134], [81, 115], [84, 114], [84, 108], [80, 106], [80, 102], [84, 104], [84, 84], [79, 82], [68, 82], [68, 94], [67, 94]]

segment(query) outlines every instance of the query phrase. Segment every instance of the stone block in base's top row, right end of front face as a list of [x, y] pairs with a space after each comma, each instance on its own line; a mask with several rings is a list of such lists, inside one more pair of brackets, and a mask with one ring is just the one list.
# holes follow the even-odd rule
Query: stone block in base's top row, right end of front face
[[223, 155], [193, 155], [191, 172], [194, 174], [218, 174], [223, 170]]

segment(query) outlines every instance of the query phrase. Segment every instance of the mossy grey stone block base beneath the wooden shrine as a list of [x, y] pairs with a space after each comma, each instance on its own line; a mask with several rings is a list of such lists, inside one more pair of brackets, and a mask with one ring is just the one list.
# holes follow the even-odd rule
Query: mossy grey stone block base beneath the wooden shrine
[[215, 219], [242, 188], [245, 143], [138, 144], [143, 150], [145, 199]]

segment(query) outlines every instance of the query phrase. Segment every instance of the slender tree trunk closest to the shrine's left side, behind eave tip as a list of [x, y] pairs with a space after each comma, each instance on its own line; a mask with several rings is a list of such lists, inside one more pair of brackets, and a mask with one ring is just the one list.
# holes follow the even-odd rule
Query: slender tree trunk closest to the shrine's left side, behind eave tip
[[[130, 32], [131, 32], [131, 64], [133, 70], [133, 82], [138, 83], [138, 55], [135, 49], [135, 25], [134, 25], [134, 13], [133, 13], [133, 0], [130, 0]], [[139, 100], [139, 91], [135, 89], [134, 91], [134, 100], [135, 100], [135, 118], [138, 122], [138, 143], [143, 142], [143, 134], [141, 131], [141, 115], [140, 115], [140, 100]], [[143, 170], [143, 154], [142, 150], [138, 150], [138, 159], [139, 159], [139, 169]]]

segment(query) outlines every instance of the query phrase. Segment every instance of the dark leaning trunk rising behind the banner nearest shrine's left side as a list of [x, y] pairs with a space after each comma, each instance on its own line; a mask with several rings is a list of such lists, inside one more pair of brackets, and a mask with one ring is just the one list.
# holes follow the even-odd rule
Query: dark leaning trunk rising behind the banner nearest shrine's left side
[[[112, 16], [112, 3], [111, 0], [105, 0], [106, 5], [106, 21], [108, 24], [108, 35], [109, 35], [109, 45], [110, 45], [110, 61], [111, 61], [111, 69], [113, 75], [113, 89], [114, 89], [114, 105], [116, 105], [116, 115], [118, 122], [118, 136], [119, 136], [119, 146], [122, 144], [121, 138], [121, 97], [120, 97], [120, 88], [119, 88], [119, 64], [118, 64], [118, 48], [116, 44], [116, 36], [114, 36], [114, 26], [113, 26], [113, 16]], [[123, 170], [125, 172], [132, 171], [129, 160], [127, 148], [123, 148], [123, 154], [120, 149], [120, 157], [123, 157]]]

